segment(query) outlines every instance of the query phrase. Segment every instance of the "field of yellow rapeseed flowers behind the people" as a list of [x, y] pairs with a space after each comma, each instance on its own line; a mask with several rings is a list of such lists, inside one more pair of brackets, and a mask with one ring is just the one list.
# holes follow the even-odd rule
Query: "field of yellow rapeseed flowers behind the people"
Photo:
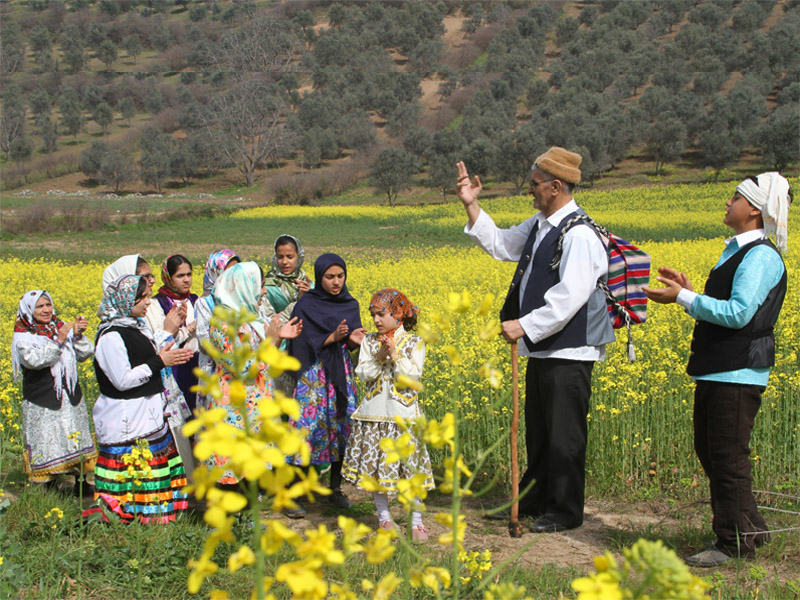
[[[797, 182], [794, 182], [797, 187]], [[708, 270], [723, 248], [723, 238], [701, 239], [705, 228], [716, 227], [723, 215], [722, 201], [732, 186], [675, 186], [682, 188], [646, 188], [619, 193], [585, 193], [579, 201], [590, 207], [593, 216], [612, 231], [645, 232], [653, 222], [683, 229], [682, 241], [636, 243], [649, 252], [653, 267], [674, 266], [686, 271], [695, 289], [702, 289]], [[697, 191], [700, 190], [700, 191]], [[635, 209], [614, 211], [615, 198], [635, 202]], [[638, 201], [636, 201], [638, 199]], [[488, 210], [501, 225], [519, 222], [529, 211], [527, 199], [501, 199], [488, 203]], [[631, 206], [628, 204], [628, 206]], [[458, 207], [455, 207], [456, 209]], [[439, 226], [462, 228], [463, 211], [454, 207], [415, 207], [406, 209], [421, 222], [439, 222]], [[291, 214], [306, 210], [292, 207], [262, 208], [242, 211], [231, 218]], [[314, 209], [317, 210], [317, 209]], [[347, 218], [348, 211], [373, 211], [379, 224], [385, 207], [346, 207], [320, 209], [320, 218]], [[272, 212], [277, 211], [277, 212]], [[790, 248], [784, 256], [789, 273], [789, 290], [777, 326], [777, 359], [770, 384], [764, 394], [762, 411], [753, 436], [755, 479], [758, 486], [797, 486], [800, 473], [800, 231], [797, 215], [792, 215]], [[696, 227], [695, 227], [696, 226]], [[691, 239], [691, 238], [697, 239]], [[333, 249], [335, 250], [335, 249]], [[95, 315], [101, 299], [100, 280], [105, 265], [96, 263], [8, 259], [0, 261], [3, 299], [0, 305], [0, 345], [6, 349], [0, 359], [0, 436], [3, 449], [21, 451], [19, 402], [20, 392], [11, 378], [10, 347], [14, 313], [20, 295], [27, 289], [44, 288], [53, 295], [58, 314], [65, 320], [78, 314], [89, 317], [92, 335], [97, 325]], [[155, 265], [154, 265], [155, 266]], [[439, 331], [438, 343], [429, 344], [421, 399], [426, 414], [441, 418], [447, 399], [459, 398], [461, 440], [469, 459], [487, 447], [498, 435], [505, 435], [510, 424], [510, 350], [492, 334], [502, 299], [511, 279], [513, 265], [500, 263], [474, 247], [405, 249], [392, 259], [363, 257], [348, 265], [348, 286], [361, 302], [362, 319], [368, 329], [371, 322], [367, 303], [371, 294], [382, 287], [396, 287], [422, 309], [421, 325], [433, 325]], [[155, 270], [155, 269], [154, 269]], [[195, 291], [202, 280], [201, 268], [195, 268]], [[494, 299], [489, 316], [470, 311], [458, 328], [447, 328], [448, 293], [468, 291], [474, 304], [487, 293]], [[434, 315], [437, 318], [434, 320]], [[638, 360], [629, 363], [625, 352], [625, 334], [621, 330], [616, 344], [607, 347], [607, 359], [594, 371], [590, 409], [588, 476], [597, 493], [649, 489], [657, 485], [665, 491], [693, 485], [701, 468], [692, 447], [691, 412], [693, 383], [685, 374], [693, 321], [675, 305], [650, 304], [647, 323], [634, 328]], [[484, 335], [485, 337], [485, 335]], [[460, 358], [458, 376], [447, 360], [447, 352]], [[524, 362], [522, 365], [524, 369]], [[494, 370], [494, 371], [493, 371]], [[481, 376], [478, 373], [481, 373]], [[96, 396], [91, 361], [81, 366], [82, 382], [90, 399]], [[524, 373], [524, 371], [523, 371]], [[486, 379], [494, 374], [499, 387]], [[522, 377], [524, 385], [524, 377]], [[524, 398], [524, 394], [521, 396]], [[524, 438], [521, 438], [524, 439]], [[524, 454], [524, 449], [520, 449]], [[507, 452], [491, 469], [507, 467]], [[434, 462], [437, 456], [433, 456]], [[524, 458], [523, 458], [524, 460]]]

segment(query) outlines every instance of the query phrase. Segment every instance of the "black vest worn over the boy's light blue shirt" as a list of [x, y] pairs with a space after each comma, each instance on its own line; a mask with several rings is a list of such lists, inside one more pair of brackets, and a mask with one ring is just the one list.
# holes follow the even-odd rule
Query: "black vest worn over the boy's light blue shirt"
[[[749, 250], [762, 244], [777, 252], [768, 239], [756, 240], [745, 245], [711, 271], [706, 281], [705, 295], [718, 300], [730, 299], [736, 269]], [[784, 296], [786, 296], [786, 268], [783, 270], [783, 277], [769, 291], [753, 318], [741, 329], [730, 329], [706, 321], [697, 321], [686, 372], [691, 376], [697, 376], [773, 366], [775, 364], [773, 328], [781, 312]]]

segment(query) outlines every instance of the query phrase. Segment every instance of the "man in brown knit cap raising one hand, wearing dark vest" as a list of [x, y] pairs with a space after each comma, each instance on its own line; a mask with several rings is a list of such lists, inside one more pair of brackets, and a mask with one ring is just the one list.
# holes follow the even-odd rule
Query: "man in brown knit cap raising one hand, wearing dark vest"
[[[539, 212], [510, 229], [498, 228], [478, 206], [481, 182], [458, 163], [458, 197], [467, 211], [464, 231], [493, 258], [517, 261], [501, 321], [503, 336], [530, 357], [526, 371], [525, 445], [528, 468], [520, 515], [538, 518], [536, 533], [583, 523], [586, 415], [592, 367], [614, 340], [599, 279], [608, 254], [597, 233], [573, 217], [585, 214], [572, 198], [581, 156], [552, 147], [536, 159], [530, 194]], [[560, 264], [551, 268], [559, 236]]]

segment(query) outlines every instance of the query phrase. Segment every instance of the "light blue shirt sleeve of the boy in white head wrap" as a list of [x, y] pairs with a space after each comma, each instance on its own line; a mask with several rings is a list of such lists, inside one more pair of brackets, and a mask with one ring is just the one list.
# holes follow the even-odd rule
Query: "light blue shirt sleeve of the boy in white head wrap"
[[[714, 268], [730, 258], [726, 254], [733, 255], [735, 250], [723, 253]], [[756, 246], [745, 255], [736, 269], [731, 297], [728, 300], [717, 300], [698, 294], [687, 312], [698, 321], [741, 329], [750, 322], [769, 291], [778, 284], [783, 271], [783, 261], [775, 250], [764, 245]]]

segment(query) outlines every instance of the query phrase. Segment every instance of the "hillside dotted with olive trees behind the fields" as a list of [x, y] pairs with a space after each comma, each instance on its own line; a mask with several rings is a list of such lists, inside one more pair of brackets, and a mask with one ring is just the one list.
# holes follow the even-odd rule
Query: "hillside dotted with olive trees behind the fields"
[[356, 198], [435, 201], [458, 158], [519, 193], [552, 144], [601, 186], [800, 161], [797, 0], [7, 0], [0, 17], [12, 193], [305, 204], [372, 171]]

